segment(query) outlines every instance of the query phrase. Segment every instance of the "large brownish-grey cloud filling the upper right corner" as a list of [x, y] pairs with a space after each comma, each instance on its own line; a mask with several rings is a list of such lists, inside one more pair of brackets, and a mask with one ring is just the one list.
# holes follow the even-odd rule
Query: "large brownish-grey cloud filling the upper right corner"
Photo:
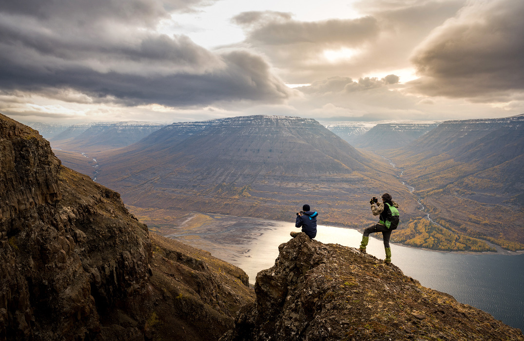
[[473, 101], [509, 101], [524, 90], [524, 2], [476, 1], [413, 53], [413, 90]]

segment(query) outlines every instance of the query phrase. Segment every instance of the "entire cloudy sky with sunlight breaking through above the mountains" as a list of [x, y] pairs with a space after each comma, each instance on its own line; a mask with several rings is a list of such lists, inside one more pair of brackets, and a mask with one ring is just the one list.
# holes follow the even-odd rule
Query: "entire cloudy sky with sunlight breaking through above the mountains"
[[522, 0], [3, 0], [20, 122], [524, 113]]

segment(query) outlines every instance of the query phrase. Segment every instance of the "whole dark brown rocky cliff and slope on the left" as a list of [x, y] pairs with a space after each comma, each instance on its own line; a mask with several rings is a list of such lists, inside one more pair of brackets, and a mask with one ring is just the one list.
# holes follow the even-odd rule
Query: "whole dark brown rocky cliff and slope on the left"
[[217, 339], [247, 275], [151, 233], [0, 114], [0, 340]]

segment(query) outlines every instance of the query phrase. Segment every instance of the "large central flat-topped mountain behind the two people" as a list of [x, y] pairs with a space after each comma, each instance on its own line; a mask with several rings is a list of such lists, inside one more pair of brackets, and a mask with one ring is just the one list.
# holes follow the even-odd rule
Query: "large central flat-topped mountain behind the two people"
[[289, 220], [308, 203], [322, 223], [363, 227], [369, 198], [389, 191], [406, 215], [418, 214], [389, 165], [312, 119], [173, 123], [97, 160], [97, 182], [138, 207]]

